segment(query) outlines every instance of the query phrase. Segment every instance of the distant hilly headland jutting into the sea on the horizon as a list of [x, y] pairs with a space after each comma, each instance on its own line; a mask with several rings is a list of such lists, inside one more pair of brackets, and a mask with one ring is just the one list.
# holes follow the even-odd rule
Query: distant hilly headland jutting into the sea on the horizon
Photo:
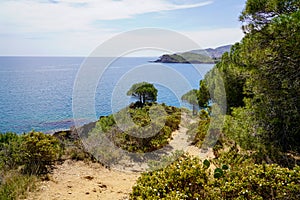
[[229, 52], [232, 45], [215, 49], [199, 49], [176, 54], [164, 54], [154, 62], [160, 63], [216, 63], [225, 52]]

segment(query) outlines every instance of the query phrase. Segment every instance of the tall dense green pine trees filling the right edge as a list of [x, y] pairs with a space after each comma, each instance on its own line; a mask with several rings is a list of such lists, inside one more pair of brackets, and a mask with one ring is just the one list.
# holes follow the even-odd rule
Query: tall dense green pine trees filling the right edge
[[213, 69], [225, 81], [226, 132], [249, 148], [299, 152], [299, 1], [248, 0], [241, 20], [246, 36]]

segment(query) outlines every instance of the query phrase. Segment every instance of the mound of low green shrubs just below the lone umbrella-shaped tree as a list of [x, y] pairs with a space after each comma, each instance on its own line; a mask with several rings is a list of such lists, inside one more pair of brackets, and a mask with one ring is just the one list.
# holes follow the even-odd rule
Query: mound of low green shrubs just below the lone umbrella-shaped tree
[[179, 128], [181, 111], [165, 104], [132, 104], [114, 115], [102, 117], [87, 140], [103, 135], [117, 147], [129, 152], [150, 152], [165, 146], [171, 133]]

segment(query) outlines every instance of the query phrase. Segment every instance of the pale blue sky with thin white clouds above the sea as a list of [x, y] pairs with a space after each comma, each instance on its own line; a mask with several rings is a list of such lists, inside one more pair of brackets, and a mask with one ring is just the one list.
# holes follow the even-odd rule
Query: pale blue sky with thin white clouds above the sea
[[203, 48], [240, 41], [245, 0], [1, 0], [0, 55], [88, 56], [138, 28], [186, 35]]

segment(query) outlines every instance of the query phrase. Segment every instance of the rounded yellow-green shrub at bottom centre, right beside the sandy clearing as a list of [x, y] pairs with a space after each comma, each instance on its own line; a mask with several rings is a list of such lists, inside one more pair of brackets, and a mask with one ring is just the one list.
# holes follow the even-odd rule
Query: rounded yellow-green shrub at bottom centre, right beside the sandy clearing
[[131, 199], [201, 199], [208, 182], [207, 167], [197, 158], [183, 156], [164, 169], [144, 173]]

